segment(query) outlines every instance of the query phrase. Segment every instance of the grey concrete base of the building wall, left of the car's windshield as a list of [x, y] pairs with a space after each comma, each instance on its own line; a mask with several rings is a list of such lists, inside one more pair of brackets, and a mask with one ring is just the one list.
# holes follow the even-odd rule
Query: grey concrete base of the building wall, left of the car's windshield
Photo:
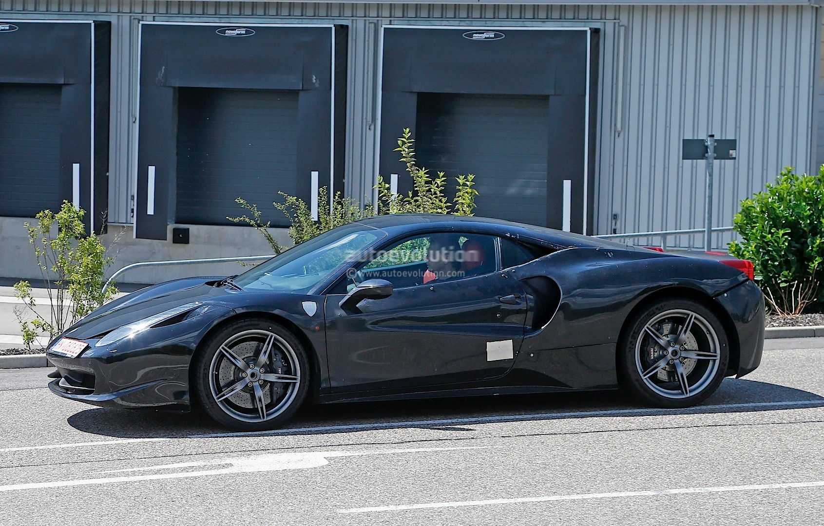
[[[29, 244], [26, 222], [35, 219], [23, 217], [0, 217], [0, 277], [14, 279], [40, 279], [34, 247]], [[176, 226], [189, 228], [189, 244], [171, 242], [171, 229]], [[288, 230], [270, 229], [280, 244], [290, 246]], [[172, 259], [231, 258], [235, 256], [258, 256], [274, 254], [263, 235], [250, 226], [207, 226], [170, 225], [168, 241], [136, 240], [131, 226], [109, 226], [109, 231], [101, 236], [105, 246], [112, 245], [110, 254], [115, 257], [106, 276], [119, 268], [142, 261], [169, 261]], [[161, 268], [138, 268], [126, 272], [121, 282], [158, 283], [188, 276], [227, 276], [243, 272], [240, 263], [213, 263], [201, 265], [170, 266]]]

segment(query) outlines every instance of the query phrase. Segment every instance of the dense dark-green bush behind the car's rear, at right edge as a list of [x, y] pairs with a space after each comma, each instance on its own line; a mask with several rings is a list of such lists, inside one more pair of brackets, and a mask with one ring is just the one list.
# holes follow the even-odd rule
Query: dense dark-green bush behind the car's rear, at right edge
[[729, 252], [753, 263], [771, 310], [802, 314], [824, 272], [824, 165], [817, 175], [784, 168], [775, 184], [742, 201], [733, 224], [742, 239]]

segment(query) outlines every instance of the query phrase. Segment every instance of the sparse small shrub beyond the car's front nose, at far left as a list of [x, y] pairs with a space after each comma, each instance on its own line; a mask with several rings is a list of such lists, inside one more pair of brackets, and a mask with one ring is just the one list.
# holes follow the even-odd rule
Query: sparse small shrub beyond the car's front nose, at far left
[[103, 274], [114, 258], [94, 233], [86, 235], [85, 213], [63, 201], [58, 213], [44, 210], [37, 214], [35, 226], [26, 223], [51, 306], [48, 316], [39, 314], [30, 282], [15, 283], [16, 296], [23, 300], [15, 314], [28, 348], [38, 332], [54, 338], [118, 292], [114, 286], [103, 292]]

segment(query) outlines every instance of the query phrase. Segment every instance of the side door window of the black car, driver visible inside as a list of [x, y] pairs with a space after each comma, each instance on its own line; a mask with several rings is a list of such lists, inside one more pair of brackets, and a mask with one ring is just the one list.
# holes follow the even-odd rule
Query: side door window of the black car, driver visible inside
[[495, 268], [494, 236], [438, 232], [382, 249], [349, 273], [347, 290], [368, 279], [385, 279], [398, 289], [480, 276]]

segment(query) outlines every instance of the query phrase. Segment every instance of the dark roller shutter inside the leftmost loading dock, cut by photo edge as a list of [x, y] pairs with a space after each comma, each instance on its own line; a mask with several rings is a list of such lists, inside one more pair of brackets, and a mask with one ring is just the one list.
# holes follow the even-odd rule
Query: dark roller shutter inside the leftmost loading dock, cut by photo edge
[[0, 85], [0, 216], [57, 210], [61, 86]]

